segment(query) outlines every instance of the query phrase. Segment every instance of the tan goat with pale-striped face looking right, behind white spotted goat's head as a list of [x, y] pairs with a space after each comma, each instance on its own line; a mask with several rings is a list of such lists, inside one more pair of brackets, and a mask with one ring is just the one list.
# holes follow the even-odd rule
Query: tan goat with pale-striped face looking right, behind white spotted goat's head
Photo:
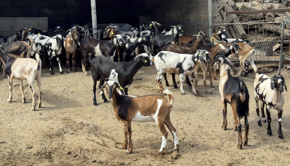
[[207, 49], [206, 51], [209, 52], [209, 59], [210, 59], [210, 63], [208, 65], [206, 65], [205, 63], [199, 63], [196, 68], [194, 69], [194, 76], [195, 76], [195, 87], [196, 87], [196, 92], [198, 92], [198, 81], [197, 81], [197, 73], [199, 71], [199, 69], [202, 70], [203, 72], [203, 84], [204, 84], [204, 90], [205, 90], [205, 93], [206, 94], [210, 94], [207, 90], [207, 68], [208, 68], [208, 71], [210, 73], [210, 86], [211, 87], [215, 87], [213, 85], [213, 82], [212, 82], [212, 63], [213, 63], [213, 59], [215, 57], [215, 55], [218, 53], [218, 52], [229, 52], [228, 50], [228, 47], [226, 45], [226, 42], [225, 41], [219, 41], [220, 43], [218, 45], [215, 45], [213, 47], [211, 47], [210, 49]]

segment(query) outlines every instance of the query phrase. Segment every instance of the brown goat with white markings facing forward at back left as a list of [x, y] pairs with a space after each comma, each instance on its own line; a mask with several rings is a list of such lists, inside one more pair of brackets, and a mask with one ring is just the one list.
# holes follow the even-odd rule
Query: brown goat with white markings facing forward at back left
[[76, 66], [76, 61], [77, 61], [77, 56], [76, 56], [76, 50], [77, 50], [77, 44], [80, 45], [80, 35], [78, 33], [78, 30], [76, 29], [70, 29], [70, 32], [66, 36], [66, 40], [63, 42], [63, 45], [65, 46], [65, 51], [67, 55], [67, 73], [69, 73], [69, 66], [70, 66], [70, 54], [72, 55], [72, 71], [76, 72], [77, 71], [77, 66]]

